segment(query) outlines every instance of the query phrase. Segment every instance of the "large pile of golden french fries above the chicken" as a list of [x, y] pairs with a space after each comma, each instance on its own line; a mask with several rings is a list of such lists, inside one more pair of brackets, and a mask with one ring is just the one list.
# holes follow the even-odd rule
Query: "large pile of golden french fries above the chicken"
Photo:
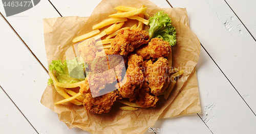
[[[109, 19], [103, 20], [93, 25], [91, 32], [76, 37], [72, 40], [72, 42], [77, 43], [89, 38], [94, 38], [96, 40], [95, 46], [98, 50], [109, 49], [111, 47], [110, 43], [117, 35], [117, 33], [121, 29], [129, 29], [129, 27], [122, 28], [125, 21], [128, 21], [128, 19], [135, 19], [139, 21], [138, 24], [131, 26], [130, 29], [132, 30], [136, 28], [143, 30], [144, 24], [148, 25], [149, 23], [148, 20], [144, 19], [144, 15], [149, 16], [145, 12], [147, 9], [145, 6], [142, 6], [141, 8], [118, 6], [114, 9], [117, 10], [117, 13], [109, 15]], [[109, 27], [106, 28], [106, 26]]]

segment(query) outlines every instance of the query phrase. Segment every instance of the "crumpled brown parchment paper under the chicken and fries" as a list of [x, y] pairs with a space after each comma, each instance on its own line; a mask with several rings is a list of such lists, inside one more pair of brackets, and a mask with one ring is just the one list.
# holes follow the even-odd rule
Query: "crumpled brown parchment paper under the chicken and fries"
[[[104, 0], [89, 18], [46, 18], [43, 22], [48, 65], [52, 60], [64, 59], [74, 37], [92, 31], [94, 24], [109, 18], [108, 15], [116, 12], [114, 7], [120, 5], [137, 8], [145, 5], [146, 12], [151, 16], [163, 10], [146, 0]], [[119, 107], [123, 104], [116, 102], [109, 113], [99, 115], [69, 102], [55, 105], [54, 103], [63, 97], [55, 91], [54, 86], [47, 86], [41, 103], [57, 113], [59, 120], [65, 122], [68, 127], [78, 127], [91, 133], [143, 133], [159, 118], [201, 113], [195, 70], [200, 55], [200, 42], [189, 29], [186, 9], [167, 8], [164, 11], [172, 18], [177, 30], [177, 44], [172, 47], [173, 67], [184, 70], [167, 100], [160, 96], [156, 108], [141, 108], [132, 112], [120, 110]], [[145, 30], [146, 28], [145, 26]]]

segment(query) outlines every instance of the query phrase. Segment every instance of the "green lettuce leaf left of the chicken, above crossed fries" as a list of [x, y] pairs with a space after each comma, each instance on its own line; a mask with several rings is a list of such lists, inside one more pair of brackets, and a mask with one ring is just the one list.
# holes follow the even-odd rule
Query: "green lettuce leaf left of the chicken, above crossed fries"
[[[77, 57], [73, 60], [53, 60], [49, 65], [49, 71], [55, 70], [55, 76], [60, 83], [77, 83], [85, 78], [84, 64], [77, 61]], [[53, 84], [51, 78], [48, 79], [48, 85]]]

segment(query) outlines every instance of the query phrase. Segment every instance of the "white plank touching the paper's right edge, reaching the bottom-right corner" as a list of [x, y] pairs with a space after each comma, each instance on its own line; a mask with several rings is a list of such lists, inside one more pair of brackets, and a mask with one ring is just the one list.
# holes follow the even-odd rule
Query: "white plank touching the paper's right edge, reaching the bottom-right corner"
[[256, 116], [201, 47], [196, 66], [202, 114], [213, 133], [255, 133]]

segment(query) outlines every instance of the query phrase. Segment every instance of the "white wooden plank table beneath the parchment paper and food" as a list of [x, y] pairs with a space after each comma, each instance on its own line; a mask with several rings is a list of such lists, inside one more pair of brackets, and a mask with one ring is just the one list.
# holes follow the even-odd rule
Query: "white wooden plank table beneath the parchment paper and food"
[[[0, 133], [89, 133], [69, 129], [40, 103], [49, 77], [42, 18], [90, 16], [99, 2], [42, 0], [9, 17], [0, 4]], [[159, 119], [156, 133], [256, 133], [256, 1], [152, 2], [186, 8], [201, 42], [202, 113]]]

